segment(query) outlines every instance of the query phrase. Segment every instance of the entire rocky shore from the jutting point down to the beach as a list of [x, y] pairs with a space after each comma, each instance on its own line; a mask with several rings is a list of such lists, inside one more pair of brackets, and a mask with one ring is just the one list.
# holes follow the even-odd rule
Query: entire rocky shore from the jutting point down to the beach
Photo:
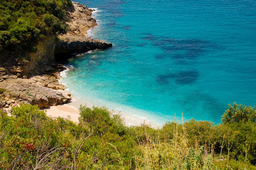
[[0, 109], [8, 112], [21, 103], [45, 108], [71, 100], [66, 87], [58, 83], [59, 73], [65, 67], [57, 61], [70, 58], [74, 53], [112, 47], [111, 43], [86, 37], [87, 30], [97, 26], [91, 14], [87, 6], [73, 2], [67, 11], [65, 35], [49, 35], [36, 45], [37, 51], [23, 56], [0, 50]]

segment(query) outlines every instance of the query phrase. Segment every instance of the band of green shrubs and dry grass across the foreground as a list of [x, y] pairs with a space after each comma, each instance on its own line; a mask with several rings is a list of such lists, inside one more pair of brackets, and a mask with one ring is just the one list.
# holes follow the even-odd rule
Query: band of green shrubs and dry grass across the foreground
[[106, 108], [80, 107], [79, 123], [37, 106], [0, 112], [0, 169], [256, 170], [256, 111], [233, 104], [222, 122], [126, 127]]

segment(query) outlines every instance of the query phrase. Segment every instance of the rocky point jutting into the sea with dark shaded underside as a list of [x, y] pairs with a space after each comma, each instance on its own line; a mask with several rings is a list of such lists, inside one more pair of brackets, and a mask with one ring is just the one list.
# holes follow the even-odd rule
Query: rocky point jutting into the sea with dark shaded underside
[[55, 45], [55, 58], [61, 60], [65, 55], [112, 47], [111, 43], [86, 37], [87, 30], [97, 26], [91, 14], [92, 10], [87, 6], [73, 2], [73, 8], [68, 11], [69, 21], [66, 22], [68, 33], [59, 36]]

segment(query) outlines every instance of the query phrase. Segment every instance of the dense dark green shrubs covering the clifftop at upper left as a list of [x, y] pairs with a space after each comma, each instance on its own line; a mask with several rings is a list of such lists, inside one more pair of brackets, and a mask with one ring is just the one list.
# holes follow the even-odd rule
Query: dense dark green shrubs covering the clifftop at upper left
[[48, 34], [66, 33], [71, 0], [1, 0], [0, 49], [28, 49]]

